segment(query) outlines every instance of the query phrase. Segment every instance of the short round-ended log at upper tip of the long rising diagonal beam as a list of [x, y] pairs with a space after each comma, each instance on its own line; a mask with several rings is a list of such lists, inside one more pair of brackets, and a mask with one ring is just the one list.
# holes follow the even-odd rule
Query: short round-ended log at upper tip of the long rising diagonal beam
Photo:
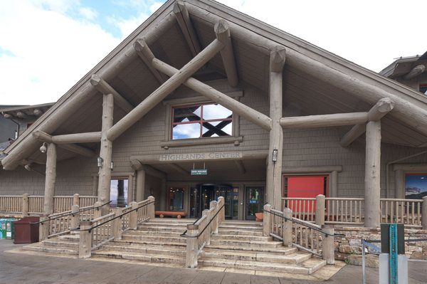
[[225, 45], [221, 50], [221, 58], [226, 70], [228, 84], [231, 85], [231, 87], [236, 87], [238, 85], [238, 75], [228, 22], [223, 19], [219, 20], [218, 23], [215, 24], [214, 30], [218, 41], [221, 41]]

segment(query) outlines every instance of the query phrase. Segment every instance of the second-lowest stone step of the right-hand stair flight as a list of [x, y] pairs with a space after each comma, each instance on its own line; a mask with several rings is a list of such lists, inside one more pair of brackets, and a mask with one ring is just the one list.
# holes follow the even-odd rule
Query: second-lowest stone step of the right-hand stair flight
[[238, 261], [264, 261], [273, 263], [302, 263], [311, 258], [311, 253], [294, 252], [294, 253], [266, 253], [260, 251], [226, 251], [220, 249], [206, 248], [202, 251], [202, 258], [223, 258], [234, 259]]

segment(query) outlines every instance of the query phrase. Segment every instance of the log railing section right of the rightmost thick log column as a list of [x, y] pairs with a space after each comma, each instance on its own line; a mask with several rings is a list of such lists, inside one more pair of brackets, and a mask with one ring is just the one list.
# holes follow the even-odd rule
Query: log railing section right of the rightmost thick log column
[[381, 223], [420, 227], [423, 199], [381, 199]]

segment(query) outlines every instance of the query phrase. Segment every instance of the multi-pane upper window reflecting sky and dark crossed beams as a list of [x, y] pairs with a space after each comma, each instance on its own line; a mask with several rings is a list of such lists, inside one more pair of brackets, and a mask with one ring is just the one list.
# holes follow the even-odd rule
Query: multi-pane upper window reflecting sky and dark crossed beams
[[174, 107], [172, 140], [231, 136], [233, 112], [214, 103]]

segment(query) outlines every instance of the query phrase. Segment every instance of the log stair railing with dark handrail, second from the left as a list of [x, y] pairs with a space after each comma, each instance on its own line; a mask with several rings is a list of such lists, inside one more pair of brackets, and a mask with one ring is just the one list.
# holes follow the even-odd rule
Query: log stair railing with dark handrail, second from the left
[[135, 230], [139, 223], [154, 219], [154, 197], [139, 202], [132, 202], [123, 209], [115, 208], [113, 212], [92, 221], [80, 222], [79, 258], [90, 258], [92, 251], [112, 240], [120, 240], [123, 231]]

